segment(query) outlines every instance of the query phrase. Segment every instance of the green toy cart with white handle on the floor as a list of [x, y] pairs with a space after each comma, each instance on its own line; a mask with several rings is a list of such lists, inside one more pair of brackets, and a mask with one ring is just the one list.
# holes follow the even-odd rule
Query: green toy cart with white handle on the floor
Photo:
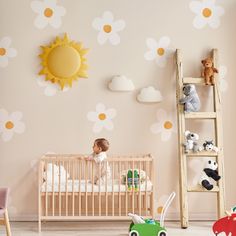
[[167, 231], [164, 227], [164, 220], [167, 209], [175, 198], [176, 193], [170, 194], [167, 199], [162, 212], [160, 221], [154, 219], [143, 219], [143, 217], [136, 214], [129, 213], [128, 216], [132, 217], [132, 223], [129, 227], [129, 236], [167, 236]]

